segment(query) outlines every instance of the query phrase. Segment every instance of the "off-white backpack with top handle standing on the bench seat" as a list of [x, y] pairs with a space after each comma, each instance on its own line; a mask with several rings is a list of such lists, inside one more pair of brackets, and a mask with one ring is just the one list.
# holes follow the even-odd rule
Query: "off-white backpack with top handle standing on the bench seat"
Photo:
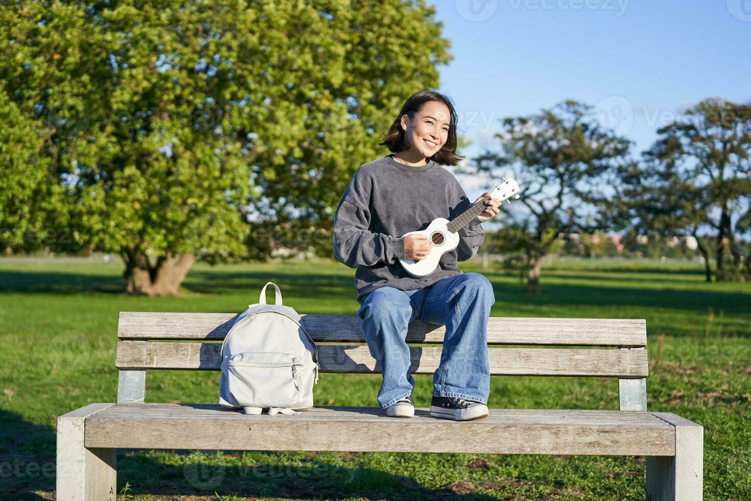
[[[276, 304], [266, 303], [266, 288], [276, 289]], [[249, 304], [232, 324], [222, 343], [219, 404], [243, 408], [246, 414], [278, 412], [294, 415], [313, 406], [318, 384], [318, 347], [300, 315], [282, 305], [273, 282], [261, 289], [258, 303]]]

